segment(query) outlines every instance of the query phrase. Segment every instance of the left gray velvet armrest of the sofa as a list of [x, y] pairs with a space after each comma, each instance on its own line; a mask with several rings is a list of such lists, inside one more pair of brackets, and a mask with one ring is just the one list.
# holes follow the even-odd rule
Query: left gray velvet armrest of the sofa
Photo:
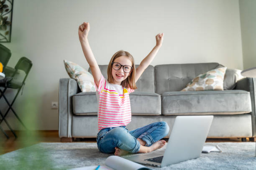
[[72, 138], [72, 96], [79, 92], [77, 81], [71, 78], [59, 80], [59, 137]]

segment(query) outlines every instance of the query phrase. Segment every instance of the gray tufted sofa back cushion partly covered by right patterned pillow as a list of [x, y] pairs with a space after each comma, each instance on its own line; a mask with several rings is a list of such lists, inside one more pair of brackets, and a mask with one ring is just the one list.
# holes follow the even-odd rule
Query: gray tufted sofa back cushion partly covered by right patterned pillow
[[180, 91], [197, 75], [220, 66], [217, 62], [156, 65], [156, 93]]

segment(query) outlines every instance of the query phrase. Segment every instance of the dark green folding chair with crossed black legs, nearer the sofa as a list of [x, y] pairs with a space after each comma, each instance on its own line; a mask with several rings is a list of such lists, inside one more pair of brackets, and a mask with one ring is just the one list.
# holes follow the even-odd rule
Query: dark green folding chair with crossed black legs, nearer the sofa
[[[28, 76], [29, 71], [31, 70], [31, 67], [32, 67], [31, 60], [29, 60], [26, 57], [21, 57], [20, 60], [18, 60], [17, 64], [15, 65], [15, 70], [14, 70], [13, 74], [11, 75], [11, 77], [5, 77], [5, 81], [0, 83], [0, 87], [4, 87], [3, 91], [0, 90], [0, 98], [3, 96], [5, 101], [7, 102], [8, 106], [9, 106], [7, 112], [3, 116], [3, 119], [0, 120], [0, 124], [3, 122], [3, 120], [5, 119], [8, 112], [10, 110], [12, 110], [13, 114], [17, 117], [19, 122], [23, 125], [23, 127], [25, 129], [27, 129], [26, 126], [24, 125], [24, 123], [20, 120], [20, 117], [18, 117], [17, 113], [14, 111], [12, 106], [13, 106], [13, 103], [15, 102], [16, 98], [18, 97], [18, 94], [19, 94], [20, 90], [25, 85], [25, 80]], [[21, 77], [21, 74], [20, 74], [21, 71], [25, 72], [25, 76]], [[8, 88], [18, 90], [14, 99], [13, 99], [13, 101], [11, 103], [7, 100], [7, 98], [4, 95], [5, 91]], [[15, 135], [15, 137], [16, 137], [16, 135]]]

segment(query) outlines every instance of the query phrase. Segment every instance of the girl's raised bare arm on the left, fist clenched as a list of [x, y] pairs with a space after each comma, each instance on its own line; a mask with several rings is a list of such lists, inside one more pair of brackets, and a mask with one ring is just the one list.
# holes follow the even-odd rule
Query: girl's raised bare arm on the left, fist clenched
[[82, 23], [82, 25], [79, 25], [78, 29], [78, 35], [79, 35], [79, 40], [82, 46], [82, 50], [84, 52], [84, 56], [92, 70], [92, 76], [94, 78], [94, 81], [99, 87], [99, 82], [101, 78], [101, 72], [100, 72], [100, 67], [97, 64], [97, 61], [95, 60], [95, 57], [92, 53], [91, 47], [89, 45], [89, 41], [87, 39], [88, 33], [90, 31], [90, 24], [89, 23]]

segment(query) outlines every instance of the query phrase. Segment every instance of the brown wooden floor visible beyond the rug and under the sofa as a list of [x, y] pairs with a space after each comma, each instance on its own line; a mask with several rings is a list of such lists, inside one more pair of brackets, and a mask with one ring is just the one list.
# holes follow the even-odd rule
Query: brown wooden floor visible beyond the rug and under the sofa
[[[60, 142], [59, 132], [57, 130], [40, 130], [36, 132], [15, 131], [18, 138], [14, 138], [10, 131], [7, 131], [9, 139], [0, 132], [0, 155], [20, 148], [31, 146], [41, 142]], [[168, 138], [164, 138], [168, 141]], [[246, 138], [247, 142], [250, 142]], [[76, 138], [74, 142], [96, 143], [96, 138]], [[206, 142], [241, 142], [241, 138], [210, 138]]]

